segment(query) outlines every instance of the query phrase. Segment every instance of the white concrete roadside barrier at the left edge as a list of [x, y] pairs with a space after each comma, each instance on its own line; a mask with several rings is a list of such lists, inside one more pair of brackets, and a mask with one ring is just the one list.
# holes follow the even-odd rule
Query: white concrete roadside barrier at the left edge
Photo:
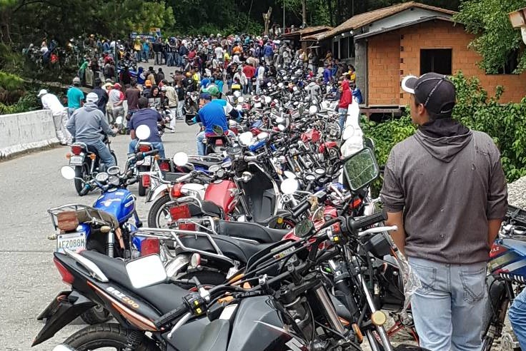
[[49, 110], [0, 116], [0, 159], [57, 143]]

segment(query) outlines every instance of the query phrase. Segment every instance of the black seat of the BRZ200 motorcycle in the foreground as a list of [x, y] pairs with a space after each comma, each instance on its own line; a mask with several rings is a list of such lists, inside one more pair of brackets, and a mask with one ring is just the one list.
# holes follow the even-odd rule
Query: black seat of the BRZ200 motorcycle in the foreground
[[179, 307], [182, 304], [182, 297], [189, 293], [177, 285], [167, 283], [136, 289], [128, 278], [123, 260], [117, 260], [91, 250], [84, 250], [80, 255], [95, 263], [109, 280], [142, 297], [162, 314]]

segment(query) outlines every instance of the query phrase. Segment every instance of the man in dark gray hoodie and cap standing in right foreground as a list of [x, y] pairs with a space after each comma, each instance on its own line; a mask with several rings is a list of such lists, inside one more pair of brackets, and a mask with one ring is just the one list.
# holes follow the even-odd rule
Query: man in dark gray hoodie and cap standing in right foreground
[[394, 243], [422, 283], [411, 298], [420, 346], [480, 350], [486, 263], [507, 210], [500, 153], [490, 136], [451, 118], [455, 86], [446, 76], [409, 76], [419, 128], [385, 165], [380, 196]]

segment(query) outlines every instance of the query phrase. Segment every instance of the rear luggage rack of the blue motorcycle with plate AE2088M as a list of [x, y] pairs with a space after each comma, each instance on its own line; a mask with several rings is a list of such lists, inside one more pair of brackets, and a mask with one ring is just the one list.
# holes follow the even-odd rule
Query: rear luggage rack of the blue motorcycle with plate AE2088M
[[51, 223], [55, 230], [64, 232], [75, 230], [80, 223], [91, 223], [94, 225], [109, 225], [111, 228], [119, 228], [119, 222], [114, 215], [99, 208], [93, 208], [79, 203], [69, 203], [47, 210], [51, 217]]

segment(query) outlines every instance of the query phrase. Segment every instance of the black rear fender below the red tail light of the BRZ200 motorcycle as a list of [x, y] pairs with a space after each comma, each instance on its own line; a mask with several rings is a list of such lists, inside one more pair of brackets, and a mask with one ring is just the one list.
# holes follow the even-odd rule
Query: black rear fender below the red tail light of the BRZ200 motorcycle
[[36, 335], [31, 347], [54, 337], [56, 332], [95, 305], [76, 290], [60, 292], [39, 317], [36, 317], [37, 320], [45, 320], [46, 324]]

